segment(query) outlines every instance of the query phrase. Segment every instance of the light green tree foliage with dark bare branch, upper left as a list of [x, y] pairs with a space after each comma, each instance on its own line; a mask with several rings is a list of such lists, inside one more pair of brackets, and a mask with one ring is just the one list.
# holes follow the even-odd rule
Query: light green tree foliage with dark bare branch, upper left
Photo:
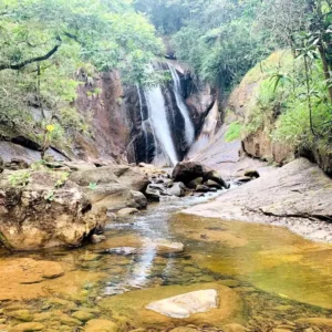
[[115, 69], [124, 81], [148, 84], [149, 64], [163, 52], [154, 27], [127, 0], [3, 0], [0, 49], [1, 126], [60, 146], [90, 134], [89, 118], [73, 106], [81, 71], [87, 84]]

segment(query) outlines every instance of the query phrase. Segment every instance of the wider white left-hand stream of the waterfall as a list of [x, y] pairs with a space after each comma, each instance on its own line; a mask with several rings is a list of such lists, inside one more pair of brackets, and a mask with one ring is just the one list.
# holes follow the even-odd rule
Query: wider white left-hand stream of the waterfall
[[164, 154], [168, 156], [173, 165], [177, 164], [177, 153], [172, 138], [170, 127], [167, 120], [165, 98], [160, 85], [144, 90], [149, 120], [154, 135], [156, 136]]

